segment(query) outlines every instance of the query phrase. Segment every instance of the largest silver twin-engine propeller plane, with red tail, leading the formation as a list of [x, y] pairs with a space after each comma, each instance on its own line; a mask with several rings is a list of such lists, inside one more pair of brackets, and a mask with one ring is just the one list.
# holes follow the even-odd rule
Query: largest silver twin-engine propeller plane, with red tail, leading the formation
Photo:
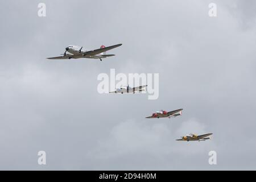
[[89, 59], [100, 59], [102, 61], [103, 58], [115, 56], [115, 55], [107, 55], [106, 51], [109, 51], [110, 49], [117, 48], [119, 46], [122, 46], [122, 44], [117, 44], [114, 46], [101, 46], [99, 49], [95, 49], [92, 51], [86, 51], [86, 49], [83, 49], [80, 46], [68, 46], [66, 47], [66, 51], [61, 54], [63, 56], [57, 56], [57, 57], [48, 57], [47, 59], [79, 59], [79, 58], [89, 58]]

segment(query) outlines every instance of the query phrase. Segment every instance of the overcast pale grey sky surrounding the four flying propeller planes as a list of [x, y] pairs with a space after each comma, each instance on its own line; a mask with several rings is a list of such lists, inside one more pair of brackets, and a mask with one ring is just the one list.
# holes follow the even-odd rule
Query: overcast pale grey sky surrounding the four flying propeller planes
[[[46, 17], [38, 4], [46, 3]], [[209, 3], [217, 17], [209, 17]], [[255, 1], [3, 1], [0, 169], [256, 169]], [[122, 43], [104, 61], [47, 60]], [[99, 94], [159, 73], [159, 98]], [[145, 119], [183, 108], [171, 119]], [[213, 133], [206, 142], [176, 142]], [[38, 151], [47, 164], [39, 166]], [[209, 151], [217, 165], [209, 165]]]

